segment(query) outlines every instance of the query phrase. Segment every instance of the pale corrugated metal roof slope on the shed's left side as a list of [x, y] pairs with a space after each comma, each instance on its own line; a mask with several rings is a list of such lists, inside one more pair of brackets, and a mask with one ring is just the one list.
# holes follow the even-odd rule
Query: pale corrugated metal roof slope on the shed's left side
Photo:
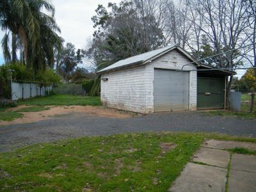
[[151, 58], [156, 57], [159, 54], [170, 51], [170, 50], [174, 49], [175, 47], [177, 47], [177, 46], [172, 45], [172, 46], [168, 46], [168, 47], [163, 47], [163, 48], [160, 48], [160, 49], [156, 49], [154, 51], [149, 51], [149, 52], [145, 52], [145, 53], [142, 53], [142, 54], [138, 54], [136, 56], [132, 56], [131, 58], [127, 58], [125, 60], [120, 60], [120, 61], [118, 61], [118, 62], [116, 62], [112, 65], [109, 65], [106, 68], [103, 68], [102, 70], [99, 70], [98, 73], [104, 72], [104, 71], [107, 71], [107, 70], [113, 70], [115, 68], [125, 67], [127, 65], [132, 65], [132, 64], [135, 64], [135, 63], [138, 63], [138, 64], [143, 63], [147, 60], [150, 60]]

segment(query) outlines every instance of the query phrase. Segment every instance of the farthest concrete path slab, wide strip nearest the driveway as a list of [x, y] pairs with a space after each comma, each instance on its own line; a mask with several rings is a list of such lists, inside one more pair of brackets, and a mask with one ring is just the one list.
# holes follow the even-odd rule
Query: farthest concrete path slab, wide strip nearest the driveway
[[218, 140], [207, 140], [204, 142], [203, 147], [209, 148], [247, 148], [248, 150], [256, 150], [256, 143], [240, 142], [240, 141], [218, 141]]

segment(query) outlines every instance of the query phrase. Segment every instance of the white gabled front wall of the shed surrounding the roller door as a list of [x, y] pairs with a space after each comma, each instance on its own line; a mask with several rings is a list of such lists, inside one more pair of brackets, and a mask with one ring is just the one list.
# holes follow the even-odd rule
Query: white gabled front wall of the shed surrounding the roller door
[[[151, 63], [146, 65], [146, 76], [147, 76], [147, 113], [154, 112], [154, 68], [163, 68], [170, 70], [180, 70], [183, 65], [190, 63], [184, 54], [179, 51], [173, 50], [163, 56], [153, 60]], [[196, 70], [195, 65], [188, 65], [183, 68], [184, 70]], [[196, 110], [196, 93], [197, 93], [197, 77], [196, 71], [189, 72], [189, 110]]]

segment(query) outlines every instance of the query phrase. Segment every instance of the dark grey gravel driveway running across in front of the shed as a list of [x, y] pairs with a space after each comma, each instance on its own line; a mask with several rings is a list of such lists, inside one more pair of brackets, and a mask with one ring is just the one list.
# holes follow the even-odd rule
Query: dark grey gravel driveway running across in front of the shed
[[0, 127], [0, 152], [64, 138], [143, 131], [220, 132], [256, 137], [256, 120], [198, 112], [153, 113], [124, 119], [70, 113], [51, 120]]

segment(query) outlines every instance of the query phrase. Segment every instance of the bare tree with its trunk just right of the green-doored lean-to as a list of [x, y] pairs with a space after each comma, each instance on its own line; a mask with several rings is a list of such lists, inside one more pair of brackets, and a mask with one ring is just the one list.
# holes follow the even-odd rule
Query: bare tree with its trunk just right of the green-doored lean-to
[[[232, 51], [243, 47], [246, 42], [244, 29], [248, 27], [244, 0], [197, 0], [194, 6], [203, 24], [200, 29], [211, 40], [217, 53], [229, 51], [219, 56], [217, 67], [231, 70], [241, 64], [243, 52]], [[203, 9], [201, 9], [203, 8]], [[227, 102], [231, 89], [232, 76], [227, 83]]]

